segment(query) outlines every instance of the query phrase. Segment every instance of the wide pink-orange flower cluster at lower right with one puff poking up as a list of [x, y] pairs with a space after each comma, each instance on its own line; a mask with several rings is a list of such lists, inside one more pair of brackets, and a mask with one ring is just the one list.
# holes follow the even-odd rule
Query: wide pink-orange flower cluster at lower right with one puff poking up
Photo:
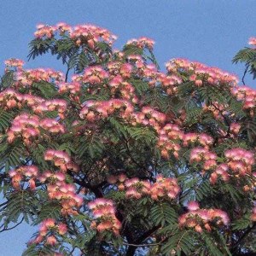
[[211, 231], [214, 224], [226, 225], [230, 222], [226, 212], [220, 209], [201, 209], [196, 201], [190, 201], [188, 209], [189, 212], [178, 218], [181, 228], [187, 227], [201, 233], [203, 230]]

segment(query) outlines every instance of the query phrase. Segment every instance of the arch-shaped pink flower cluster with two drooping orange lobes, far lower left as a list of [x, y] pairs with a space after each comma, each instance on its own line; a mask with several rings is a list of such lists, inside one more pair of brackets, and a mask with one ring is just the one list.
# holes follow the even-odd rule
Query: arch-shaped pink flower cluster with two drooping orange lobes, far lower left
[[36, 178], [38, 177], [37, 166], [20, 166], [15, 170], [9, 172], [9, 177], [12, 180], [12, 186], [15, 189], [20, 189], [20, 182], [28, 178], [29, 188], [36, 189]]

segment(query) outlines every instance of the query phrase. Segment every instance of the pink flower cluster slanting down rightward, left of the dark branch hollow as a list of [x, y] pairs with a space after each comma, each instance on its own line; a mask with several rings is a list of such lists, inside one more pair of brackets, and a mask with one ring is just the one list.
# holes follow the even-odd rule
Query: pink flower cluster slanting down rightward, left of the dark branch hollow
[[54, 165], [59, 167], [62, 172], [67, 172], [67, 170], [79, 171], [79, 167], [73, 163], [69, 154], [61, 150], [48, 149], [44, 153], [44, 160], [52, 160]]

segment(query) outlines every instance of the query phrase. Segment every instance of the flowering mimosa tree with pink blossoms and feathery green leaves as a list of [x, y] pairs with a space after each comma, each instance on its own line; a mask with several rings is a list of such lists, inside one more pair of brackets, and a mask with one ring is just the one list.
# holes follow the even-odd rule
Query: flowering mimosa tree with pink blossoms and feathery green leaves
[[[5, 62], [1, 231], [39, 224], [24, 255], [254, 255], [256, 91], [195, 61], [163, 73], [153, 40], [114, 40], [39, 25], [28, 59], [67, 73]], [[234, 61], [255, 78], [255, 48]]]

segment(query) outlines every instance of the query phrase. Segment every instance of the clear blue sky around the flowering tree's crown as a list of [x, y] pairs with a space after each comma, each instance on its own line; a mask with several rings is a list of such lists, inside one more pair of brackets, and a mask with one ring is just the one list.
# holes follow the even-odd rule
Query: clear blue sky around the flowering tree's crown
[[[173, 57], [201, 61], [236, 73], [236, 52], [256, 36], [254, 0], [5, 0], [1, 2], [0, 67], [10, 57], [26, 59], [27, 44], [40, 23], [94, 23], [108, 28], [120, 47], [130, 38], [154, 38], [160, 67]], [[53, 67], [59, 62], [43, 57], [26, 67]], [[255, 82], [247, 79], [251, 86]], [[19, 256], [33, 230], [26, 225], [0, 233], [0, 255]]]

